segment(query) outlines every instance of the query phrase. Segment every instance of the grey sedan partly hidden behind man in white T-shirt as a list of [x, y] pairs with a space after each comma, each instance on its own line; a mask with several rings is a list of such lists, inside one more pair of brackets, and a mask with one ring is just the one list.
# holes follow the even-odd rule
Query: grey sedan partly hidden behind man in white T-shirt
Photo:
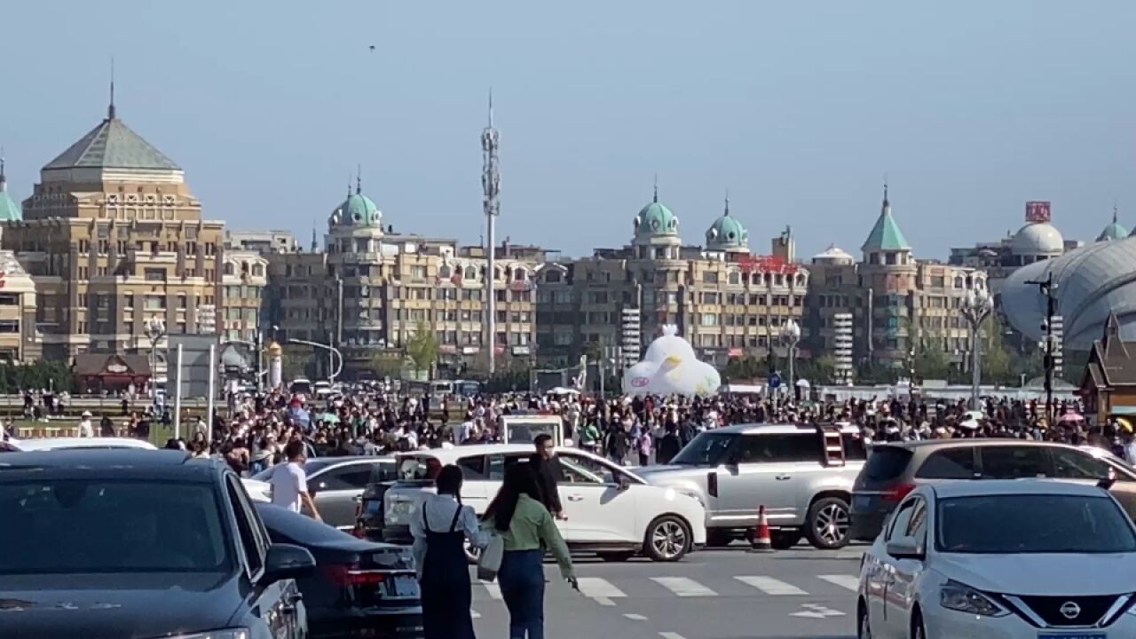
[[[257, 473], [252, 475], [252, 479], [267, 482], [277, 467], [273, 466]], [[357, 455], [308, 459], [303, 465], [303, 471], [308, 475], [308, 492], [316, 501], [319, 516], [340, 530], [353, 529], [358, 515], [359, 497], [367, 488], [367, 482], [375, 467], [386, 468], [387, 472], [393, 473], [394, 457]]]

